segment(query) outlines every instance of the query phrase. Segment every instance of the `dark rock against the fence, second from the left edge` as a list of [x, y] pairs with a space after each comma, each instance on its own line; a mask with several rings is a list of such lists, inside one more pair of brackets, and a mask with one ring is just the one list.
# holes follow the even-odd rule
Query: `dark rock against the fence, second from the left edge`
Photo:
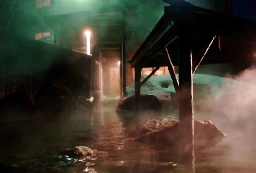
[[70, 114], [77, 110], [76, 99], [63, 85], [49, 85], [35, 95], [35, 103], [47, 116]]

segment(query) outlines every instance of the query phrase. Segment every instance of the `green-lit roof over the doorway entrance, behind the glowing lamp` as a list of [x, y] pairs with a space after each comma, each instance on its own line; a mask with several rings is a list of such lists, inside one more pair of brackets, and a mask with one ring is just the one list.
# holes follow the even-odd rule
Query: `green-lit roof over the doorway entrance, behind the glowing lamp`
[[92, 11], [45, 17], [45, 22], [57, 33], [73, 40], [81, 40], [84, 30], [90, 28], [97, 44], [107, 52], [119, 52], [122, 23], [125, 19], [126, 45], [128, 45], [137, 14], [137, 5], [118, 6]]

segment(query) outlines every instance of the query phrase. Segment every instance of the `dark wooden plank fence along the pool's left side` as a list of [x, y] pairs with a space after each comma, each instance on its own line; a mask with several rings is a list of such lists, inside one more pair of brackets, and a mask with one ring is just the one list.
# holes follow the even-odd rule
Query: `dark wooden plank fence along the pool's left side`
[[90, 96], [91, 56], [9, 34], [0, 36], [0, 99], [23, 91], [34, 99], [54, 82], [75, 96]]

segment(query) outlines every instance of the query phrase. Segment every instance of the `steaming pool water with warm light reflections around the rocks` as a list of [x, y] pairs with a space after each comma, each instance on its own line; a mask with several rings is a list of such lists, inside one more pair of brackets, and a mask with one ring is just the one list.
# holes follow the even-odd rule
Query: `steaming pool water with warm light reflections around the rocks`
[[[212, 120], [215, 123], [216, 116], [205, 112], [195, 113], [196, 119], [212, 117], [215, 117]], [[178, 111], [167, 109], [158, 113], [146, 112], [139, 116], [118, 115], [111, 106], [96, 109], [94, 113], [2, 123], [0, 167], [2, 170], [14, 172], [190, 171], [189, 166], [179, 164], [171, 156], [168, 157], [165, 150], [127, 140], [128, 134], [137, 124], [147, 119], [161, 118], [178, 119]], [[222, 123], [216, 125], [223, 126]], [[209, 153], [196, 158], [195, 171], [254, 172], [256, 169], [253, 161], [244, 165], [232, 160], [232, 145], [229, 142], [224, 140]], [[79, 145], [104, 152], [101, 158], [97, 154], [84, 158], [58, 154], [66, 148]], [[8, 165], [11, 167], [7, 167]]]

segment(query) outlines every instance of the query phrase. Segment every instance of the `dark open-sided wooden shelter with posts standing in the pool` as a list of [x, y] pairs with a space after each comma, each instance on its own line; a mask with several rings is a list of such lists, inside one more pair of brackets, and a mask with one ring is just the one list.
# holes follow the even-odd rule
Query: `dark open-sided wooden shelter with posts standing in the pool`
[[[141, 82], [141, 69], [168, 66], [178, 97], [180, 124], [193, 153], [193, 74], [200, 64], [255, 63], [256, 22], [183, 0], [164, 2], [170, 5], [129, 61], [135, 68], [135, 109], [140, 109], [141, 85], [156, 71]], [[179, 79], [174, 66], [178, 66]]]

